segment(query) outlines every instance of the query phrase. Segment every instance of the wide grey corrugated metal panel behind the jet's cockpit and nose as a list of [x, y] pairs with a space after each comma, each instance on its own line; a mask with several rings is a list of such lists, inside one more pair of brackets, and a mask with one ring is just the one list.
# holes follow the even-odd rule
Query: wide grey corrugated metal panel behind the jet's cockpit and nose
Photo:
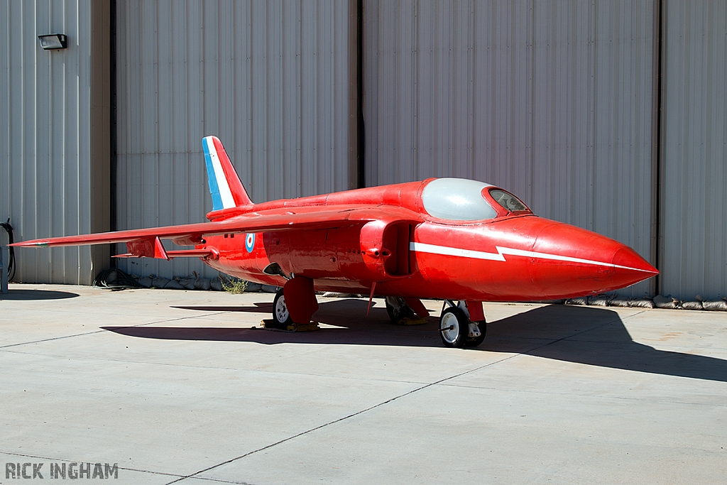
[[483, 180], [652, 256], [654, 1], [381, 0], [364, 20], [367, 185]]

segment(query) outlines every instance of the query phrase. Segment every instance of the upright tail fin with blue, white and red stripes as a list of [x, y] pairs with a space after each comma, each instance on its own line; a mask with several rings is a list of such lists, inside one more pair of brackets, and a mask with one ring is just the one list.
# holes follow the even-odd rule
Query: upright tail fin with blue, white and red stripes
[[212, 210], [252, 204], [220, 139], [202, 138], [202, 149], [207, 166], [209, 192], [212, 193]]

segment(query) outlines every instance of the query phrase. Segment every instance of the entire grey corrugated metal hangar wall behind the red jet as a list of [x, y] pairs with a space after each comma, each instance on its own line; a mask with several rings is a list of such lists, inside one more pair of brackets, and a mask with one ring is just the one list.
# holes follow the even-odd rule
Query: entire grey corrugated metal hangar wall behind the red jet
[[[660, 3], [662, 292], [726, 295], [723, 1], [365, 1], [366, 184], [486, 180], [653, 259]], [[354, 185], [355, 0], [116, 5], [117, 228], [204, 220], [209, 134], [257, 201]], [[0, 0], [0, 217], [19, 240], [108, 225], [104, 8]], [[36, 36], [52, 32], [68, 49], [40, 49]], [[104, 259], [89, 248], [17, 254], [20, 281], [89, 283]], [[140, 262], [121, 265], [204, 268]]]

